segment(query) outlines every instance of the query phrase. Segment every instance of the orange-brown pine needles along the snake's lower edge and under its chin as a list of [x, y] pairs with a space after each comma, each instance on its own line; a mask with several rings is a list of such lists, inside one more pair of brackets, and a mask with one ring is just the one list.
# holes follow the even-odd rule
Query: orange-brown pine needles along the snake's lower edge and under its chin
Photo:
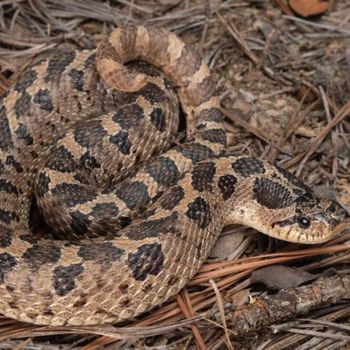
[[[312, 268], [322, 268], [336, 263], [349, 260], [350, 253], [346, 252], [350, 248], [347, 241], [350, 232], [342, 234], [317, 248], [297, 248], [295, 250], [283, 251], [280, 253], [263, 254], [241, 258], [234, 261], [223, 261], [202, 266], [198, 274], [189, 283], [189, 287], [201, 286], [201, 291], [189, 292], [185, 288], [168, 304], [152, 312], [149, 316], [136, 321], [127, 327], [97, 326], [97, 327], [38, 327], [21, 324], [20, 322], [2, 319], [0, 321], [0, 341], [8, 338], [26, 338], [57, 334], [93, 334], [101, 337], [89, 343], [84, 349], [97, 349], [101, 345], [114, 343], [119, 339], [134, 339], [139, 337], [149, 337], [153, 335], [166, 334], [181, 327], [190, 327], [199, 348], [205, 348], [201, 332], [196, 326], [196, 321], [206, 320], [210, 323], [210, 313], [216, 309], [215, 305], [223, 304], [221, 294], [223, 292], [237, 293], [249, 286], [249, 275], [252, 271], [261, 267], [274, 264], [281, 264], [290, 261], [300, 260], [306, 257], [328, 255], [319, 260]], [[335, 253], [343, 255], [332, 256]], [[215, 283], [213, 283], [215, 281]], [[234, 287], [240, 282], [238, 288]], [[244, 283], [246, 282], [246, 283]], [[208, 312], [208, 310], [212, 309]], [[219, 310], [223, 313], [223, 309]], [[187, 321], [186, 322], [186, 318]], [[224, 321], [222, 321], [224, 324]], [[222, 325], [221, 325], [222, 326]], [[224, 327], [225, 329], [225, 327]], [[228, 330], [226, 330], [228, 332]]]

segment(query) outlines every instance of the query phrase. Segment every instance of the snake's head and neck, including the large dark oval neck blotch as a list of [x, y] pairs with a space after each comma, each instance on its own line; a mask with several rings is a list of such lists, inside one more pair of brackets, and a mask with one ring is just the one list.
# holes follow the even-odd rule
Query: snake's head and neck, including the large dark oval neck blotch
[[320, 198], [283, 168], [251, 158], [236, 160], [232, 168], [242, 185], [236, 190], [240, 199], [233, 197], [226, 217], [229, 224], [304, 244], [328, 241], [350, 225], [350, 215], [339, 203]]

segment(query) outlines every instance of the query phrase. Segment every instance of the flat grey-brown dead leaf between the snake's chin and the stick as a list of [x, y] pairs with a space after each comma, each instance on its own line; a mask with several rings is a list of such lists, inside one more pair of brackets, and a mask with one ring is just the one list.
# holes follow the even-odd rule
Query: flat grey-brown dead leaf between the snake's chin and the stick
[[252, 281], [265, 284], [271, 289], [298, 287], [314, 280], [317, 275], [283, 265], [264, 267], [252, 273]]

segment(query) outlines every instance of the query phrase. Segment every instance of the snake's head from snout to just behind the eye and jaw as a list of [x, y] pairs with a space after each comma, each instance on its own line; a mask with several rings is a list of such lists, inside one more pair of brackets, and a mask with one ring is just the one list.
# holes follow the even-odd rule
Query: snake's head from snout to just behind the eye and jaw
[[350, 224], [349, 213], [337, 202], [307, 192], [296, 199], [294, 215], [274, 222], [279, 238], [297, 243], [321, 243]]

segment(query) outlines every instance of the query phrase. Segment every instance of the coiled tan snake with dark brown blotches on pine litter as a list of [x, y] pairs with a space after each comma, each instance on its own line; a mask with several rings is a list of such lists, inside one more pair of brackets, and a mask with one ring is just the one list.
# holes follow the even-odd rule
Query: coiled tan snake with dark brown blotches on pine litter
[[332, 237], [349, 219], [340, 203], [227, 152], [216, 90], [192, 45], [144, 25], [22, 72], [0, 105], [0, 313], [131, 320], [176, 295], [230, 223]]

